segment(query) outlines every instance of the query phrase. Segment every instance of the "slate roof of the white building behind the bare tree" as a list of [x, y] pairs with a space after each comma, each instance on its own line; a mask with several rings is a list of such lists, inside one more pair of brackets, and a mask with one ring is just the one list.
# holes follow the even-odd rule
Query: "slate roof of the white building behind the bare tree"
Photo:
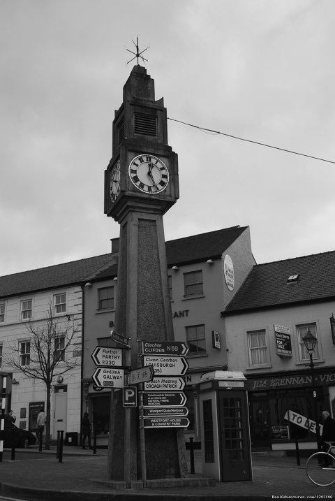
[[109, 265], [111, 256], [103, 254], [0, 277], [0, 297], [80, 284]]

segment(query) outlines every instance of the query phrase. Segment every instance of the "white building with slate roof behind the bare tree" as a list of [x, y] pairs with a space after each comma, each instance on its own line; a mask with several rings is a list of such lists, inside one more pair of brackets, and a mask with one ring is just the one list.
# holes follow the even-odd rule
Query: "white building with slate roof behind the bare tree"
[[34, 377], [43, 363], [36, 361], [36, 333], [42, 358], [47, 356], [45, 340], [52, 336], [50, 355], [57, 359], [50, 398], [51, 439], [57, 438], [58, 430], [80, 433], [82, 291], [86, 277], [109, 261], [107, 254], [0, 277], [0, 370], [9, 375], [6, 411], [13, 410], [20, 428], [34, 432], [39, 409], [47, 410], [45, 383]]

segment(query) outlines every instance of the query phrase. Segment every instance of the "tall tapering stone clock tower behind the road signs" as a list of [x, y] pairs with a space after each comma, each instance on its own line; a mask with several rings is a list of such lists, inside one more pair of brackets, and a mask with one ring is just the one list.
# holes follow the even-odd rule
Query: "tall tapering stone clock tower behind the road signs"
[[[105, 170], [105, 214], [120, 224], [115, 331], [129, 338], [132, 370], [141, 365], [139, 340], [174, 340], [163, 214], [179, 198], [179, 184], [167, 129], [154, 80], [134, 66], [115, 112], [112, 159]], [[112, 391], [108, 474], [135, 481], [143, 478], [139, 410], [125, 411], [121, 393]], [[130, 438], [125, 412], [131, 413]], [[147, 479], [186, 476], [183, 431], [146, 428], [144, 443]]]

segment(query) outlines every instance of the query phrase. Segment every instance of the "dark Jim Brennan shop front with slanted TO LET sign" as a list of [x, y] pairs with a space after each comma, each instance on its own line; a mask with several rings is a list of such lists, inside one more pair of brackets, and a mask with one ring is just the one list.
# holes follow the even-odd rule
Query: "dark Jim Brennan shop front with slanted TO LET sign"
[[315, 403], [322, 430], [322, 410], [334, 409], [335, 370], [315, 370], [315, 393], [306, 370], [246, 377], [253, 450], [294, 449], [296, 440], [315, 449]]

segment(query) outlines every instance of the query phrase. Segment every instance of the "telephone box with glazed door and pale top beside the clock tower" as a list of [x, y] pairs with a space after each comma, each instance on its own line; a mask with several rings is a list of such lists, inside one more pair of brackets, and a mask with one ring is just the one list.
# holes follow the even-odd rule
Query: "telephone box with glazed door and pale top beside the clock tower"
[[246, 378], [216, 370], [198, 383], [202, 474], [221, 482], [252, 480]]

